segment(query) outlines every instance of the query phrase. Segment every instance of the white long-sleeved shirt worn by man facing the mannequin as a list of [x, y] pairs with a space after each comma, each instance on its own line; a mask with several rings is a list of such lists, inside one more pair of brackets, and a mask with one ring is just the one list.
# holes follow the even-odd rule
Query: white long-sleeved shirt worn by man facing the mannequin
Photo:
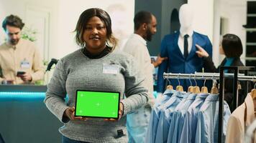
[[154, 65], [151, 64], [150, 53], [147, 49], [147, 41], [138, 34], [132, 34], [129, 36], [127, 43], [123, 48], [124, 52], [134, 56], [138, 66], [141, 67], [140, 71], [145, 75], [146, 87], [149, 89], [149, 101], [148, 103], [153, 106], [155, 98], [153, 97], [153, 75], [152, 71], [155, 69]]

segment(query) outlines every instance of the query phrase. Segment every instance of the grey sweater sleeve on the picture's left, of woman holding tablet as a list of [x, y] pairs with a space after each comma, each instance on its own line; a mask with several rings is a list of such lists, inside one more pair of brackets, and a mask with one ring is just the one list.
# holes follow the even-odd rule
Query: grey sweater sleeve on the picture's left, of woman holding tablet
[[68, 122], [69, 120], [63, 118], [63, 113], [68, 106], [65, 105], [65, 82], [67, 75], [63, 69], [63, 61], [58, 61], [58, 64], [55, 66], [55, 70], [52, 75], [50, 83], [47, 84], [47, 92], [45, 95], [45, 104], [46, 107], [54, 114], [61, 122]]

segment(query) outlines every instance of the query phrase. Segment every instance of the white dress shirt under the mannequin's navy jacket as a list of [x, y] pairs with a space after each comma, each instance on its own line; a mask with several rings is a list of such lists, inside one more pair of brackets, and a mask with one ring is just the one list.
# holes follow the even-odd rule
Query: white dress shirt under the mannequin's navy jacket
[[188, 34], [188, 54], [189, 54], [192, 49], [193, 29], [188, 30], [188, 31], [180, 31], [180, 35], [178, 36], [178, 47], [180, 48], [180, 51], [183, 55], [184, 55], [184, 36], [186, 34]]

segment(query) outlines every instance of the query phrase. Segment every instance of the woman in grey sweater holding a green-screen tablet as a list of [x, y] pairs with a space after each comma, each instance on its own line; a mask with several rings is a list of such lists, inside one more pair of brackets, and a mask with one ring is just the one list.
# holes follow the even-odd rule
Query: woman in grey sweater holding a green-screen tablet
[[[106, 11], [97, 8], [83, 11], [75, 31], [81, 49], [58, 61], [45, 97], [47, 108], [64, 123], [59, 129], [63, 143], [128, 142], [124, 116], [147, 103], [144, 77], [132, 56], [115, 49], [116, 39]], [[79, 90], [120, 93], [119, 118], [75, 116]], [[96, 105], [100, 107], [101, 103]]]

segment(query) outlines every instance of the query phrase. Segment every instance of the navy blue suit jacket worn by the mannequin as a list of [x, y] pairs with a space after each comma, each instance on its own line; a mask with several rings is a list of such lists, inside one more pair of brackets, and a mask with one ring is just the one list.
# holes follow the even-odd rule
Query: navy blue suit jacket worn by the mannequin
[[[183, 56], [178, 47], [178, 36], [180, 32], [166, 35], [161, 42], [160, 56], [168, 57], [168, 60], [163, 61], [158, 68], [157, 74], [157, 92], [164, 92], [165, 90], [165, 79], [163, 79], [164, 72], [181, 73], [181, 74], [193, 74], [195, 71], [201, 72], [203, 68], [203, 59], [199, 58], [196, 54], [196, 44], [203, 47], [210, 56], [212, 56], [211, 41], [208, 36], [199, 34], [193, 31], [192, 48], [187, 58]], [[170, 84], [175, 88], [178, 86], [178, 79], [169, 79]], [[190, 86], [188, 79], [180, 79], [180, 85], [183, 86], [184, 90]], [[192, 84], [195, 85], [194, 80], [191, 80]], [[204, 81], [196, 80], [196, 84], [201, 87]]]

